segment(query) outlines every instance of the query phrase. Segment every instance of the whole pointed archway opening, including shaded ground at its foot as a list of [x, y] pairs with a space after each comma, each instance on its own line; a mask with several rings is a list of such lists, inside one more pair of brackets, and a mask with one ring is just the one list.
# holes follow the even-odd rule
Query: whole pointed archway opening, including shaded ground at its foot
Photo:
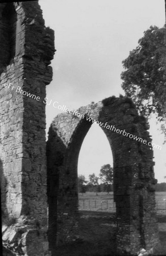
[[93, 124], [82, 142], [77, 168], [80, 238], [85, 245], [87, 243], [91, 245], [90, 248], [93, 247], [93, 255], [109, 254], [115, 247], [113, 175], [111, 180], [107, 180], [111, 175], [102, 177], [100, 171], [105, 170], [104, 173], [107, 174], [109, 166], [113, 172], [109, 140], [101, 127]]

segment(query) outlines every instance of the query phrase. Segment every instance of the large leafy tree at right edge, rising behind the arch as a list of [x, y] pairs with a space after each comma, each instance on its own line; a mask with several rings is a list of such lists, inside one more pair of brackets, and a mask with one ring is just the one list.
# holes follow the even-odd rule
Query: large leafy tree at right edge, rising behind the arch
[[166, 28], [151, 26], [123, 60], [122, 88], [145, 117], [157, 114], [166, 138]]

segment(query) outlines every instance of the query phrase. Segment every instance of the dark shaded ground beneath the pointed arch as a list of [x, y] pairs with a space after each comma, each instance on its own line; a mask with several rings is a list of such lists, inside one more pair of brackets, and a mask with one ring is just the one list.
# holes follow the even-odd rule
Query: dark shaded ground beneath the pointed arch
[[[59, 246], [59, 256], [114, 256], [115, 222], [107, 212], [80, 212], [80, 240], [70, 245]], [[54, 256], [54, 255], [52, 255]]]

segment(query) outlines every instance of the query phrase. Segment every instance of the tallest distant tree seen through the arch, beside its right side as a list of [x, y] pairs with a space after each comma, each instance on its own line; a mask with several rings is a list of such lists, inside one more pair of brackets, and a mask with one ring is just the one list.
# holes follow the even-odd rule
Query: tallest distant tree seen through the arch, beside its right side
[[105, 164], [101, 167], [99, 179], [106, 185], [106, 191], [109, 194], [111, 191], [110, 184], [113, 184], [113, 168], [110, 164]]

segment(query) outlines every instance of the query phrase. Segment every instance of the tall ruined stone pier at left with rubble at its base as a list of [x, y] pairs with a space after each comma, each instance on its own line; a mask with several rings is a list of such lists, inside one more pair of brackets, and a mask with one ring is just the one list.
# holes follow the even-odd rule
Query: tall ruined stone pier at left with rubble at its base
[[15, 255], [49, 255], [43, 100], [54, 32], [31, 1], [0, 4], [0, 34], [3, 243]]

